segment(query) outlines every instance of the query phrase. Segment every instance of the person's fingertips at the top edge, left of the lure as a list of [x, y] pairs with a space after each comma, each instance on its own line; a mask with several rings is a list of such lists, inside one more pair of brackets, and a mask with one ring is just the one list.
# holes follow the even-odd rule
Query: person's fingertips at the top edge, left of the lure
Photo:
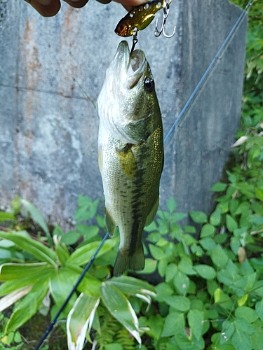
[[[60, 0], [25, 0], [30, 3], [43, 17], [55, 16], [60, 10]], [[86, 5], [88, 0], [65, 0], [70, 6], [81, 8]], [[101, 3], [109, 3], [112, 0], [97, 0]], [[138, 6], [145, 0], [114, 0], [121, 3], [126, 10], [130, 11], [132, 6]]]

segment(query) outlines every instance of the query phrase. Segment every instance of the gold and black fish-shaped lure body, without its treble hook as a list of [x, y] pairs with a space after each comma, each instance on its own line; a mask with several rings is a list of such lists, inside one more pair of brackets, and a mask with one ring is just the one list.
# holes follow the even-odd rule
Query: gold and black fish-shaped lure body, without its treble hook
[[115, 33], [119, 36], [132, 36], [135, 30], [145, 29], [154, 20], [156, 12], [163, 8], [164, 3], [166, 0], [151, 0], [136, 6], [119, 21]]

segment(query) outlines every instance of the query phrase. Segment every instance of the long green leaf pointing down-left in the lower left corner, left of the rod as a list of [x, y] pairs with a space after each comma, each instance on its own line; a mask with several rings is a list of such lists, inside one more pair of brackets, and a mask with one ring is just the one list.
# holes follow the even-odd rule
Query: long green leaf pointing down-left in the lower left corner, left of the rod
[[46, 293], [48, 293], [48, 279], [46, 279], [46, 276], [39, 276], [39, 280], [35, 283], [32, 290], [20, 301], [18, 307], [11, 314], [6, 324], [5, 332], [14, 332], [32, 318], [39, 309]]

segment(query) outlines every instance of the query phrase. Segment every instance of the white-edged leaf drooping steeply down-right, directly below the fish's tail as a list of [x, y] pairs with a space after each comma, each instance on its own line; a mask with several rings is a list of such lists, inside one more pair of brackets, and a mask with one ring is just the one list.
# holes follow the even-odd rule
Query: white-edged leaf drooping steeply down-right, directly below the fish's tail
[[102, 301], [110, 314], [135, 337], [139, 344], [142, 344], [139, 335], [139, 322], [127, 297], [111, 283], [103, 282], [101, 290]]

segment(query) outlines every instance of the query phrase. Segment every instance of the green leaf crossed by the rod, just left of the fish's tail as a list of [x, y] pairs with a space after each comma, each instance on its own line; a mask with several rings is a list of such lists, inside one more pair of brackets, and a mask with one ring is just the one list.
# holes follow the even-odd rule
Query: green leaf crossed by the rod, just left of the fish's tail
[[[100, 248], [99, 253], [97, 253], [97, 257], [102, 256], [103, 254], [111, 251], [114, 246], [117, 244], [116, 238], [107, 239], [102, 248]], [[93, 241], [91, 243], [86, 244], [85, 246], [81, 246], [81, 248], [76, 248], [76, 251], [70, 255], [68, 259], [68, 263], [72, 265], [85, 265], [88, 263], [90, 258], [93, 256], [97, 247], [100, 245], [100, 241]]]

